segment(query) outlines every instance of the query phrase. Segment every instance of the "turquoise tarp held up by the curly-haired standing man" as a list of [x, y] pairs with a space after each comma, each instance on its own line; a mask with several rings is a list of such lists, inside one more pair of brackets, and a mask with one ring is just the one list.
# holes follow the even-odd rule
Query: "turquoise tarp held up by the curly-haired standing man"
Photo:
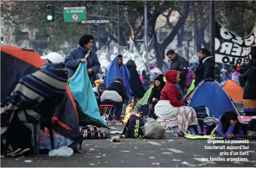
[[96, 97], [87, 73], [87, 64], [80, 63], [75, 74], [69, 79], [71, 93], [79, 108], [79, 125], [106, 127], [99, 113]]

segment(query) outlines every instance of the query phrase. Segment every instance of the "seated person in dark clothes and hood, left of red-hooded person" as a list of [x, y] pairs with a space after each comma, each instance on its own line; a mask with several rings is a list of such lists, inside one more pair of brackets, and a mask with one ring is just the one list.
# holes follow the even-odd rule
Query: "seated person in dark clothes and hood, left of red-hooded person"
[[151, 90], [149, 99], [147, 100], [147, 105], [149, 105], [149, 117], [152, 117], [154, 115], [154, 106], [157, 104], [157, 102], [160, 100], [161, 97], [161, 90], [164, 88], [165, 82], [163, 79], [163, 75], [160, 74], [156, 81], [154, 82], [154, 87]]

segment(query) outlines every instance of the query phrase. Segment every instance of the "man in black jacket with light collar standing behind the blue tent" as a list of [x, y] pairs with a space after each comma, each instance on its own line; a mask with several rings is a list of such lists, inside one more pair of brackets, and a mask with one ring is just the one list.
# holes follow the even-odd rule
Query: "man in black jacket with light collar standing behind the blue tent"
[[214, 58], [206, 48], [199, 50], [199, 65], [196, 71], [196, 81], [194, 82], [195, 87], [205, 79], [215, 78], [215, 64]]

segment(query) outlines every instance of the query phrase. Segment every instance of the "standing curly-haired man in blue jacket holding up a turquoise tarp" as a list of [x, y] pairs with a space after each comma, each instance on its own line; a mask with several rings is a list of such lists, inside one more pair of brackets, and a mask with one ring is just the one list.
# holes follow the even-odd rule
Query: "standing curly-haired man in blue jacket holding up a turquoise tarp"
[[80, 62], [87, 63], [87, 73], [90, 81], [93, 82], [96, 79], [96, 75], [100, 71], [100, 63], [97, 54], [92, 51], [93, 37], [89, 34], [85, 34], [79, 40], [79, 45], [68, 52], [65, 58], [65, 66], [69, 69], [69, 78], [75, 74], [76, 69]]

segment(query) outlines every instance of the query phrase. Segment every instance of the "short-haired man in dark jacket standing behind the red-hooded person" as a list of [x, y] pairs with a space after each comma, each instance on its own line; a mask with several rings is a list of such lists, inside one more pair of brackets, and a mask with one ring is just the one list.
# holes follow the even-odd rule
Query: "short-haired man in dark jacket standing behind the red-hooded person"
[[180, 86], [181, 91], [184, 91], [186, 87], [188, 73], [187, 61], [185, 58], [180, 57], [173, 50], [169, 50], [166, 55], [171, 61], [171, 64], [169, 65], [169, 70], [176, 70], [180, 72], [180, 82], [178, 85]]

